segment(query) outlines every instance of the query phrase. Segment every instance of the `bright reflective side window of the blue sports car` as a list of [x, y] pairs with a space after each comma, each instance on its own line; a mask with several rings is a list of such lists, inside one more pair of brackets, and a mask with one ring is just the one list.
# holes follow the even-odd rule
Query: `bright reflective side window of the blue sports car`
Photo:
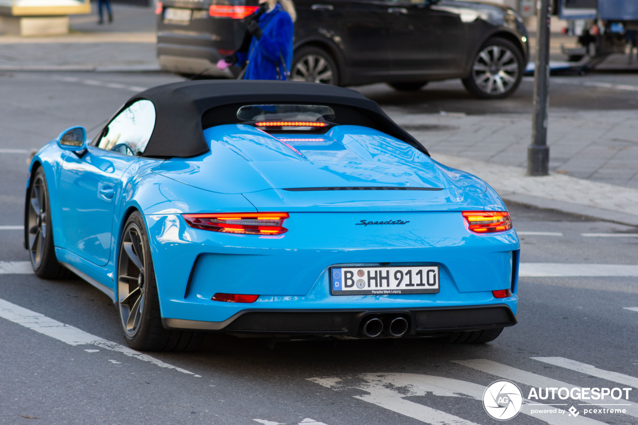
[[100, 149], [127, 155], [141, 155], [155, 126], [155, 107], [138, 100], [124, 109], [102, 131], [96, 144]]

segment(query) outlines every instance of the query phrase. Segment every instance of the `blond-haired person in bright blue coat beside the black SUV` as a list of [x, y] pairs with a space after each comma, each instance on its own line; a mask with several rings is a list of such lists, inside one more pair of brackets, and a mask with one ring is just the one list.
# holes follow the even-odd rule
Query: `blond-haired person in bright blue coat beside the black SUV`
[[246, 65], [245, 80], [288, 80], [292, 65], [292, 38], [297, 14], [291, 0], [260, 0], [260, 9], [247, 20], [251, 36], [234, 54], [221, 59], [220, 70]]

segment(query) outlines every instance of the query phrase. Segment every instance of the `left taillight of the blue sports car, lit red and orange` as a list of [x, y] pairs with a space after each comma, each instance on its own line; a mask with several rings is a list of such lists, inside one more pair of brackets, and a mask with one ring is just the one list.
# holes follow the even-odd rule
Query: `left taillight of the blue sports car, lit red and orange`
[[288, 213], [182, 214], [190, 227], [244, 235], [281, 235]]

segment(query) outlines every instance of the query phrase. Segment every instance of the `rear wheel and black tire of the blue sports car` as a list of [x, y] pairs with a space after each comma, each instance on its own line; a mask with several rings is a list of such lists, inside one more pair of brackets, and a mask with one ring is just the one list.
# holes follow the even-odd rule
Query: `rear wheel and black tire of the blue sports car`
[[135, 350], [190, 351], [202, 342], [200, 332], [172, 331], [161, 323], [151, 246], [138, 211], [126, 220], [121, 237], [117, 310], [126, 343]]

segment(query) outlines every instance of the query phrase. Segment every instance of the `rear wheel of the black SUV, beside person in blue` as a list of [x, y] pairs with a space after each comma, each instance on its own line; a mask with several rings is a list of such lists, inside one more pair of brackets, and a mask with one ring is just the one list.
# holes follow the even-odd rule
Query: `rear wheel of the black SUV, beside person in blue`
[[339, 70], [332, 57], [322, 48], [302, 47], [292, 58], [290, 79], [339, 85]]

